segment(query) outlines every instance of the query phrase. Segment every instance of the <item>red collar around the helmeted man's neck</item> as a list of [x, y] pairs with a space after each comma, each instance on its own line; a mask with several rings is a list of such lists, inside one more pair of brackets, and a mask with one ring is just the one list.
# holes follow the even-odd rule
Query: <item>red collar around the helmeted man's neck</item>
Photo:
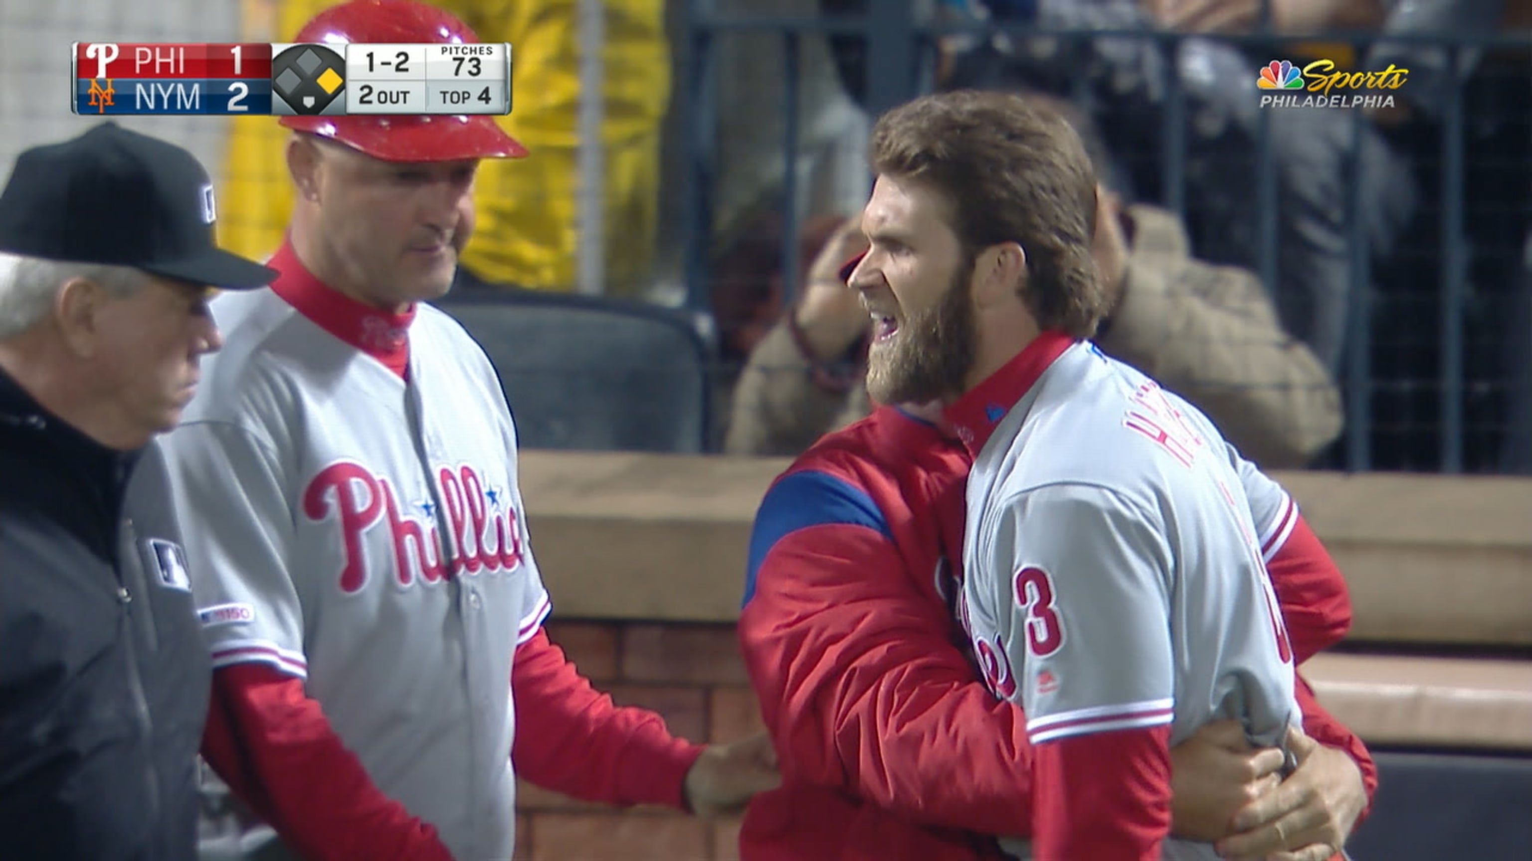
[[271, 282], [273, 293], [319, 328], [404, 377], [404, 369], [409, 368], [409, 323], [415, 319], [414, 305], [403, 313], [391, 314], [343, 296], [308, 271], [293, 251], [291, 242], [282, 244], [282, 248], [271, 256], [270, 265], [282, 273]]

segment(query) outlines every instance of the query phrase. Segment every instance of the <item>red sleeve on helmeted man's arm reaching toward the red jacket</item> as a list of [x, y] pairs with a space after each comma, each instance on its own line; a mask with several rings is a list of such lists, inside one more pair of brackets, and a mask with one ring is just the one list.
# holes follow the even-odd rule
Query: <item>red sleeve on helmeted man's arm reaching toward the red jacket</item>
[[617, 708], [548, 640], [544, 630], [516, 647], [516, 774], [585, 801], [686, 806], [686, 772], [702, 754], [654, 712]]

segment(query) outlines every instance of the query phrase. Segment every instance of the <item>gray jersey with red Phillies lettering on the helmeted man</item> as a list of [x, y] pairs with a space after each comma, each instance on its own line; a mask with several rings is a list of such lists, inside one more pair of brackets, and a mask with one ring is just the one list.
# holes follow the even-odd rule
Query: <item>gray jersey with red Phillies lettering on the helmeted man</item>
[[225, 346], [165, 440], [213, 665], [303, 679], [455, 858], [510, 858], [512, 656], [548, 597], [489, 360], [423, 303], [408, 383], [270, 288], [213, 311]]

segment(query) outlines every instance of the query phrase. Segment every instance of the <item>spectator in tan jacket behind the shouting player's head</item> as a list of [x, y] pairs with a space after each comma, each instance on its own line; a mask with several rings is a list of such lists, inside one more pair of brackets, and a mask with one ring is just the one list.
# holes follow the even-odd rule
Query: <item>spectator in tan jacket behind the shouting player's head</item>
[[[1106, 152], [1091, 123], [1046, 101], [1074, 123], [1100, 172]], [[864, 248], [859, 224], [846, 222], [751, 354], [726, 452], [798, 453], [870, 412], [861, 385], [869, 317], [838, 271]], [[1169, 211], [1124, 205], [1100, 187], [1094, 254], [1118, 296], [1097, 345], [1192, 401], [1246, 457], [1265, 469], [1301, 467], [1340, 434], [1334, 380], [1278, 323], [1259, 279], [1192, 257]]]

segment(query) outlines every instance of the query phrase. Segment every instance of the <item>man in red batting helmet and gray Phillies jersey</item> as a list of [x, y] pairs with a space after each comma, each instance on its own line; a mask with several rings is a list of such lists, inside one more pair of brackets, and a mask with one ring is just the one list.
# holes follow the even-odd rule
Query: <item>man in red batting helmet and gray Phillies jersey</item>
[[[297, 41], [472, 43], [358, 0]], [[516, 429], [452, 283], [489, 116], [288, 116], [270, 290], [213, 303], [224, 360], [167, 441], [214, 665], [204, 755], [309, 861], [504, 861], [515, 780], [714, 812], [777, 783], [614, 708], [542, 631]], [[515, 768], [513, 768], [515, 766]]]

